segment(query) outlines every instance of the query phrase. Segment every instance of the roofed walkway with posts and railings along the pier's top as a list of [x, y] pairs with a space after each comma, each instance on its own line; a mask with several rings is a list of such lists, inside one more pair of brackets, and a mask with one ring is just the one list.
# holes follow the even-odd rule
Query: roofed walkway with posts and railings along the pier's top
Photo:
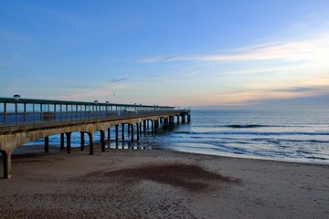
[[0, 98], [0, 134], [65, 123], [124, 119], [173, 112], [175, 107], [52, 99]]

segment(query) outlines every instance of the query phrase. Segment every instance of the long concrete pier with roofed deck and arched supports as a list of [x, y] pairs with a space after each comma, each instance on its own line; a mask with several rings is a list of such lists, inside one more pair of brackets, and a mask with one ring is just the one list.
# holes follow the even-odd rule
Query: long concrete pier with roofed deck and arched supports
[[[4, 178], [12, 176], [12, 152], [31, 141], [44, 139], [45, 152], [48, 152], [49, 136], [60, 134], [60, 150], [66, 148], [70, 153], [71, 133], [80, 132], [80, 150], [84, 150], [84, 136], [87, 134], [89, 153], [93, 154], [96, 131], [101, 132], [101, 151], [105, 151], [106, 141], [124, 141], [125, 129], [128, 130], [129, 136], [126, 137], [129, 141], [139, 141], [142, 132], [151, 131], [154, 134], [160, 128], [173, 126], [175, 122], [179, 124], [190, 120], [190, 110], [177, 110], [169, 106], [102, 103], [98, 100], [20, 99], [19, 95], [0, 98], [0, 152]], [[115, 130], [113, 138], [111, 129]]]

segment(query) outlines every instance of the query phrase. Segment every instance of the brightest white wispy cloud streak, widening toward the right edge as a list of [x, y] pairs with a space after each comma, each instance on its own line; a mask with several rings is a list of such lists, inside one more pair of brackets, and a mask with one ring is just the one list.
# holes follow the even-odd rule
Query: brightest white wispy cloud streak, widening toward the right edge
[[148, 57], [143, 62], [162, 61], [201, 61], [201, 62], [237, 62], [259, 60], [306, 61], [323, 59], [329, 54], [329, 35], [318, 36], [311, 40], [292, 41], [232, 48], [229, 52], [214, 55], [190, 55], [166, 57]]

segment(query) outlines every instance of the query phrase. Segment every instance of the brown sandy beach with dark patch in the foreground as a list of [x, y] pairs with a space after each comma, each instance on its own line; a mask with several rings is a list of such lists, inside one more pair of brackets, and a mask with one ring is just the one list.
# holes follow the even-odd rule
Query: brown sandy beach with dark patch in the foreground
[[328, 172], [177, 151], [51, 148], [14, 156], [13, 178], [0, 180], [0, 218], [327, 218]]

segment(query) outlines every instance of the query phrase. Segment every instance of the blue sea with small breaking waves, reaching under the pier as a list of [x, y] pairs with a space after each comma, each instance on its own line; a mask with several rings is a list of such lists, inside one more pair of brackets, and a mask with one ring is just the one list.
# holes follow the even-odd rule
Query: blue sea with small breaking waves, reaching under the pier
[[[87, 135], [85, 139], [88, 144]], [[80, 132], [73, 133], [71, 140], [72, 147], [79, 147]], [[100, 141], [100, 133], [95, 133], [94, 141]], [[25, 146], [43, 144], [38, 140]], [[59, 147], [59, 135], [49, 137], [49, 144]], [[329, 164], [329, 110], [192, 109], [189, 123], [175, 123], [156, 134], [146, 131], [138, 142], [126, 138], [108, 143], [107, 148]]]

